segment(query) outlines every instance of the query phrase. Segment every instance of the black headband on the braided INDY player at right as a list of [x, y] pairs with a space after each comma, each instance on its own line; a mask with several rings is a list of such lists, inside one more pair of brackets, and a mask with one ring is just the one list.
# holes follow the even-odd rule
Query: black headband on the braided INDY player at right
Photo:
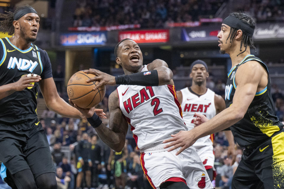
[[248, 35], [249, 37], [252, 37], [252, 35], [254, 34], [254, 26], [250, 26], [247, 23], [233, 16], [228, 16], [227, 18], [225, 18], [223, 20], [223, 24], [233, 27], [237, 30], [242, 30], [243, 33]]

